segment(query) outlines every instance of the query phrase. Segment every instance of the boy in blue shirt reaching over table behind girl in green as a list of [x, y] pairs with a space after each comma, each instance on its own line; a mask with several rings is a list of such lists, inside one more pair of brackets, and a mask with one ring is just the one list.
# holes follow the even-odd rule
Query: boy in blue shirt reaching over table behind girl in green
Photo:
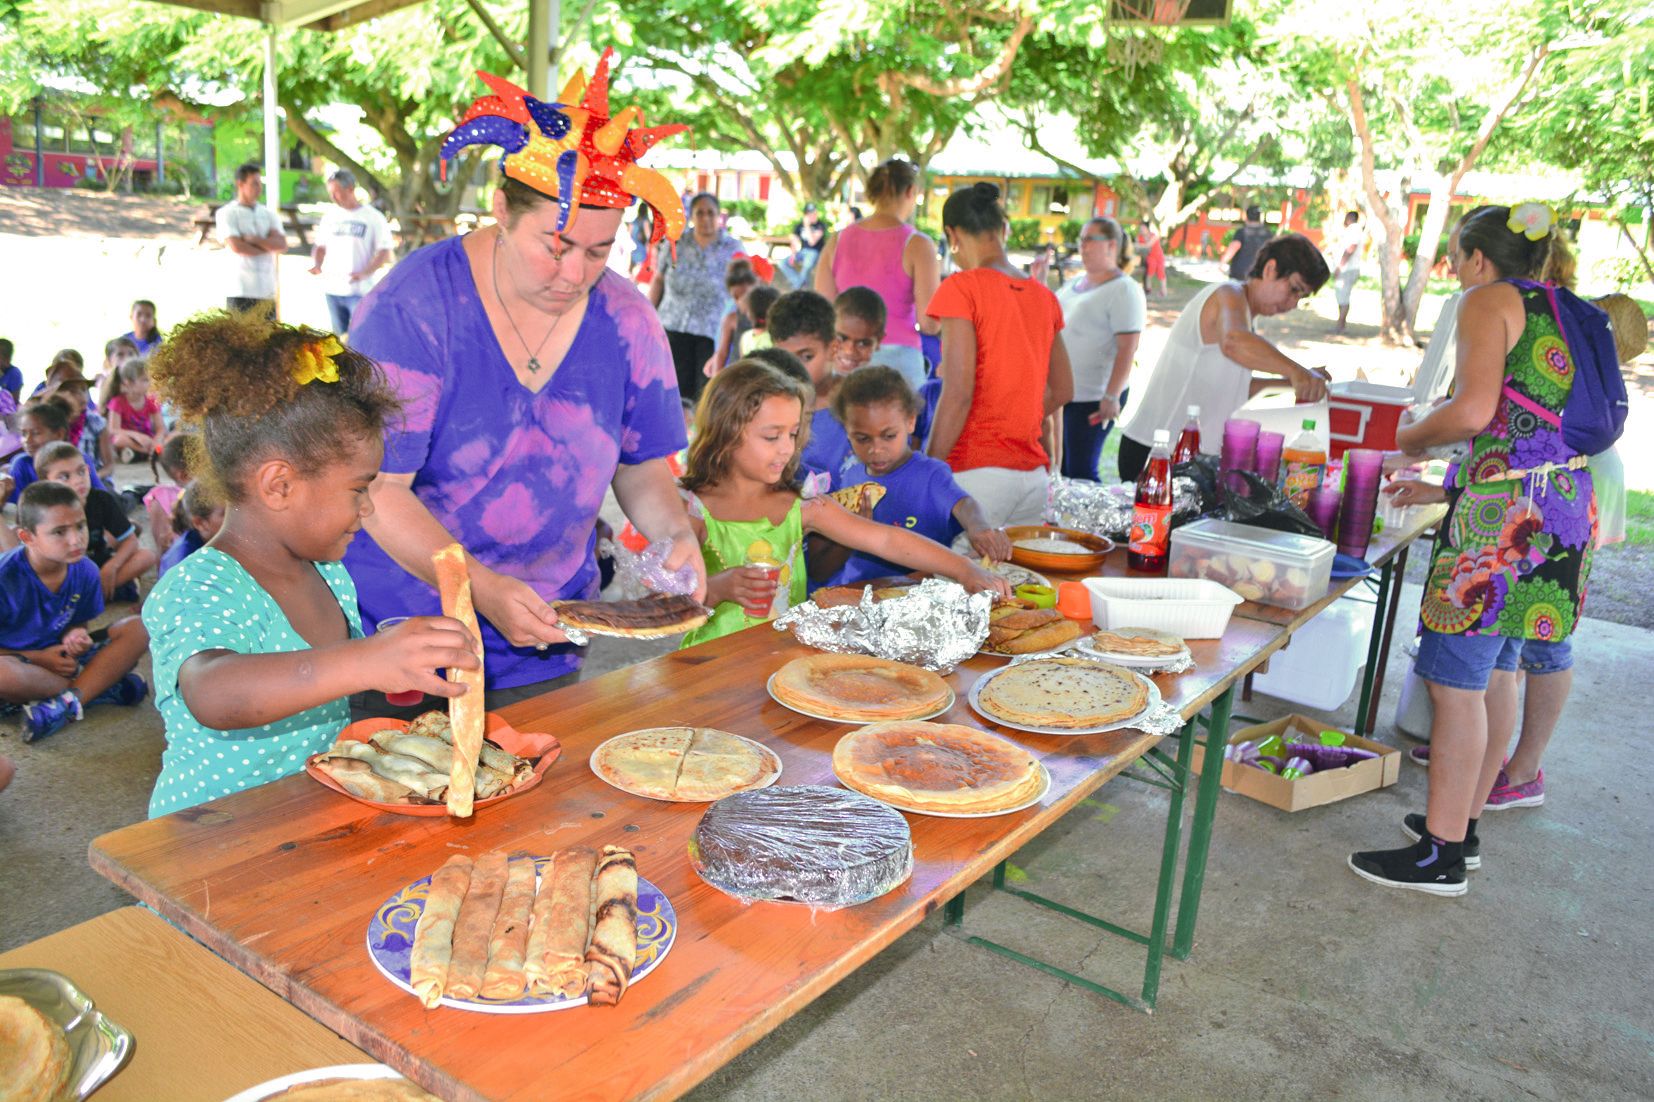
[[[963, 529], [976, 554], [996, 561], [1011, 558], [1011, 539], [989, 528], [976, 498], [959, 488], [953, 470], [910, 445], [918, 417], [918, 397], [893, 367], [862, 367], [845, 376], [832, 399], [842, 420], [853, 460], [834, 477], [834, 490], [877, 482], [885, 496], [858, 511], [883, 525], [898, 525], [948, 546]], [[868, 577], [906, 574], [908, 569], [860, 551], [812, 541], [807, 548], [810, 579], [824, 584], [855, 586]]]

